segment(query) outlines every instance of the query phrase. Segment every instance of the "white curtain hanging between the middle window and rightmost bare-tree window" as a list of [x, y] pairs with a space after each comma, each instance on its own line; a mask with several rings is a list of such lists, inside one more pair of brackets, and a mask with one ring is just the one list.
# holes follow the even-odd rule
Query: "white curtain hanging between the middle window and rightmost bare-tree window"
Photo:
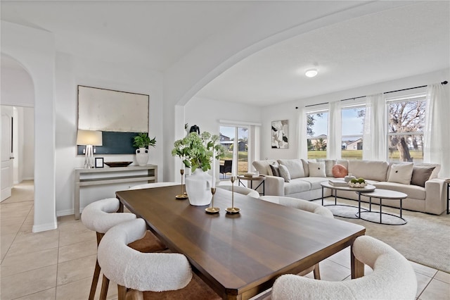
[[363, 159], [387, 161], [387, 111], [384, 94], [366, 97]]

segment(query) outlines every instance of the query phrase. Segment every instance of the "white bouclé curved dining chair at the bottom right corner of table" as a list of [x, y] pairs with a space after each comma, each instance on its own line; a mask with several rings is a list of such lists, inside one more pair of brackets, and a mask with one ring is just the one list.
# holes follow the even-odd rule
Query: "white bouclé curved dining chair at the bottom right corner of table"
[[373, 272], [339, 282], [282, 275], [274, 283], [272, 299], [416, 299], [416, 273], [391, 246], [365, 235], [355, 239], [353, 253]]

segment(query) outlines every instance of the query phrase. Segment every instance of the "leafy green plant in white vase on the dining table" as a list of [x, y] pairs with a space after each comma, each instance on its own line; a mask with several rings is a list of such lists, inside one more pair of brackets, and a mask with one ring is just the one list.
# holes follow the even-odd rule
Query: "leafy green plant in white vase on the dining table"
[[[224, 157], [224, 148], [217, 144], [218, 135], [210, 132], [191, 132], [174, 142], [172, 156], [179, 156], [193, 174], [186, 177], [186, 192], [189, 202], [195, 206], [210, 204], [212, 177], [206, 173], [215, 159]], [[214, 157], [213, 157], [214, 156]], [[215, 174], [213, 174], [215, 176]]]

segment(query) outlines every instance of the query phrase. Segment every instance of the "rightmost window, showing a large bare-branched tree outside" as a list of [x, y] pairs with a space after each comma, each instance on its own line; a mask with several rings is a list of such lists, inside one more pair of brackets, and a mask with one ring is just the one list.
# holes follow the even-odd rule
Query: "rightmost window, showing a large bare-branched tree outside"
[[387, 99], [389, 161], [423, 161], [425, 94]]

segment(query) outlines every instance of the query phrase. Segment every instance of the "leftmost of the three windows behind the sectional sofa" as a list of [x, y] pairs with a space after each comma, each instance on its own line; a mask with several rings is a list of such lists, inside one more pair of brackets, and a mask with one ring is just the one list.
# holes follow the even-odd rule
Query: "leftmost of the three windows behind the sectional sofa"
[[328, 111], [307, 113], [308, 158], [326, 158]]

